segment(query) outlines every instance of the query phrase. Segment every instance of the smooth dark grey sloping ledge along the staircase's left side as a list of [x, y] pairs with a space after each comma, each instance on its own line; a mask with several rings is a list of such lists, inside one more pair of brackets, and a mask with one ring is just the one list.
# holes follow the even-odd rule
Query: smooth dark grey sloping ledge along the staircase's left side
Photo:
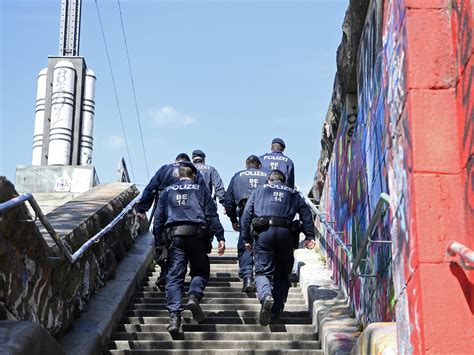
[[113, 328], [120, 320], [135, 291], [153, 260], [154, 238], [147, 232], [140, 235], [127, 257], [117, 267], [116, 276], [94, 295], [87, 310], [74, 322], [60, 341], [67, 354], [100, 354]]

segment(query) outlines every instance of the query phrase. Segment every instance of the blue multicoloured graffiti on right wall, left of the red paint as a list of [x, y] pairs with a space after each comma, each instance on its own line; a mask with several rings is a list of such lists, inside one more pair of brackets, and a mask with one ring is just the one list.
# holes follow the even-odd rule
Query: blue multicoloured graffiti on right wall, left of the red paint
[[[353, 253], [364, 237], [382, 192], [388, 192], [386, 167], [385, 88], [383, 85], [382, 1], [373, 1], [362, 32], [357, 60], [357, 119], [353, 108], [342, 114], [333, 156], [323, 190], [322, 205], [343, 232]], [[348, 100], [352, 101], [352, 100]], [[349, 139], [347, 139], [349, 137]], [[373, 239], [389, 239], [389, 216], [382, 218]], [[346, 256], [328, 237], [325, 250], [334, 279], [349, 294], [358, 320], [363, 324], [394, 319], [394, 289], [391, 251], [387, 244], [371, 244], [367, 261], [359, 272], [364, 276], [350, 284]]]

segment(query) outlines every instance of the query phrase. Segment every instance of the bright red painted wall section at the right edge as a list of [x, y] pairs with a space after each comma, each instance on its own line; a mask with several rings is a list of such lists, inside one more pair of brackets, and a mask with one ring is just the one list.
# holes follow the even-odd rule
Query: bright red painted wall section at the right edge
[[[407, 281], [413, 353], [474, 353], [474, 273], [445, 255], [474, 249], [472, 0], [405, 0], [405, 112], [411, 144]], [[400, 349], [403, 350], [403, 349]]]

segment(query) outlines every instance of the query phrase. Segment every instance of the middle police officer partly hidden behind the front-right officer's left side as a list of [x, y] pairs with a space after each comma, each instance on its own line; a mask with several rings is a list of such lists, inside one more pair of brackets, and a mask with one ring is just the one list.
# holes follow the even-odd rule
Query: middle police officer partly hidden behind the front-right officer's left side
[[[225, 198], [225, 210], [230, 218], [232, 228], [239, 231], [238, 220], [244, 212], [250, 194], [267, 181], [267, 173], [260, 170], [262, 163], [256, 155], [250, 155], [245, 161], [245, 170], [237, 172], [230, 180]], [[253, 253], [245, 249], [245, 240], [242, 233], [237, 242], [237, 255], [239, 258], [239, 277], [243, 279], [243, 292], [254, 291], [253, 280]]]

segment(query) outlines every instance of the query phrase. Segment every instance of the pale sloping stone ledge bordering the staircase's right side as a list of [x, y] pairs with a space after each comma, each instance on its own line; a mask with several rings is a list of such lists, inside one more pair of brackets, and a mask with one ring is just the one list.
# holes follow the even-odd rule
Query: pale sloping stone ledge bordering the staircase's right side
[[295, 251], [297, 273], [325, 354], [350, 354], [360, 335], [347, 298], [335, 286], [319, 254]]

